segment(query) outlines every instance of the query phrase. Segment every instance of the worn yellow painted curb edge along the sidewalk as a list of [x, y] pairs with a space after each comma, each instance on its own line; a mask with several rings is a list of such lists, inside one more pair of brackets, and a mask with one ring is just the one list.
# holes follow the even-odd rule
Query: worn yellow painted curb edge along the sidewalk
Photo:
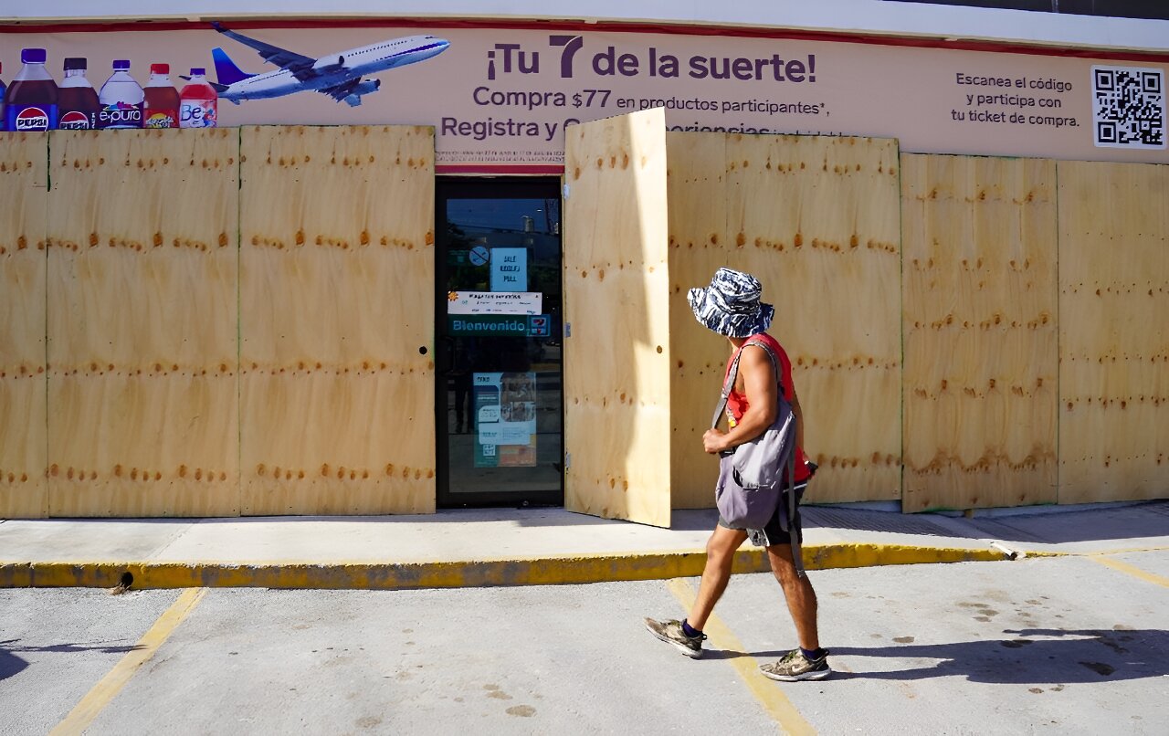
[[[1057, 556], [1059, 553], [1028, 553]], [[890, 564], [1002, 561], [997, 549], [909, 547], [904, 544], [809, 544], [809, 570]], [[458, 562], [33, 562], [0, 563], [0, 588], [113, 588], [125, 572], [132, 588], [283, 588], [407, 590], [419, 588], [482, 588], [555, 585], [617, 581], [667, 579], [701, 575], [700, 550], [616, 553], [566, 557], [533, 557]], [[760, 548], [741, 549], [735, 572], [767, 572]]]

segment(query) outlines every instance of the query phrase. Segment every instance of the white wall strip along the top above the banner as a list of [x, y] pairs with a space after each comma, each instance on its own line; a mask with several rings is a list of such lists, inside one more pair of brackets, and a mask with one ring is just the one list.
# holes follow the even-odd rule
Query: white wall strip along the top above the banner
[[[884, 0], [5, 0], [0, 22], [443, 18], [602, 20], [909, 35], [1169, 53], [1169, 21], [1028, 13]], [[174, 4], [179, 5], [179, 4]], [[582, 16], [582, 7], [590, 15]]]

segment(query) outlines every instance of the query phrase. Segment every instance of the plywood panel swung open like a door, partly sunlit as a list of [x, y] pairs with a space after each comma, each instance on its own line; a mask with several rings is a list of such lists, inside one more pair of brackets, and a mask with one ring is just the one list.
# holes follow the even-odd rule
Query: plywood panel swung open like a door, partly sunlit
[[565, 182], [565, 506], [670, 526], [663, 110], [572, 126]]

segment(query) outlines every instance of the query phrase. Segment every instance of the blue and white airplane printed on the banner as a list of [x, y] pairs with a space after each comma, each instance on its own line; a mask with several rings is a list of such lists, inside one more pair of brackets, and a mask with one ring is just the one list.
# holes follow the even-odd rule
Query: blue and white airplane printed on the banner
[[210, 82], [210, 85], [220, 99], [237, 105], [244, 99], [270, 99], [311, 90], [355, 107], [361, 104], [362, 95], [381, 88], [381, 79], [362, 79], [364, 75], [426, 61], [450, 46], [450, 41], [435, 36], [403, 36], [312, 58], [228, 30], [220, 23], [212, 23], [212, 27], [229, 39], [250, 46], [260, 51], [264, 61], [279, 67], [277, 71], [247, 74], [223, 49], [212, 49], [219, 81]]

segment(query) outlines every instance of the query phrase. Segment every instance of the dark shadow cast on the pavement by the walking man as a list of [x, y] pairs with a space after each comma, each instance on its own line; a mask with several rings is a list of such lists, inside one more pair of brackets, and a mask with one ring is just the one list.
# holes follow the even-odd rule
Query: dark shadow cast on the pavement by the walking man
[[[888, 657], [898, 660], [936, 659], [908, 669], [853, 671], [832, 674], [833, 680], [925, 680], [963, 676], [970, 682], [997, 685], [1050, 685], [1106, 682], [1160, 678], [1169, 674], [1169, 632], [1058, 629], [1005, 630], [1009, 638], [952, 644], [831, 647], [831, 657]], [[756, 652], [760, 660], [787, 652]], [[718, 657], [721, 654], [722, 657]], [[743, 657], [741, 652], [710, 652], [711, 659]], [[831, 664], [831, 659], [829, 660]], [[864, 660], [850, 660], [853, 668]]]

